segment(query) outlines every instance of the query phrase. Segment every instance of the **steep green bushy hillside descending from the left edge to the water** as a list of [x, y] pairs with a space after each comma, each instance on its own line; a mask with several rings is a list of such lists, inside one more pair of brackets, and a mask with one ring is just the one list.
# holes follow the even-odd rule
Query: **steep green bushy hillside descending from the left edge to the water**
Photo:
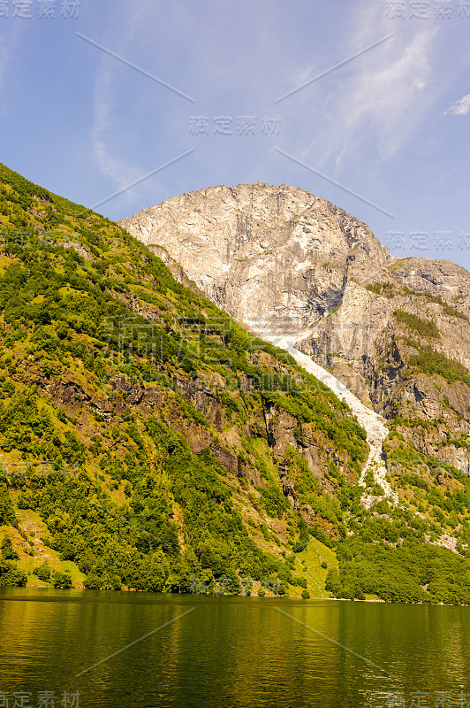
[[300, 592], [292, 547], [358, 498], [346, 406], [108, 219], [0, 179], [0, 583]]

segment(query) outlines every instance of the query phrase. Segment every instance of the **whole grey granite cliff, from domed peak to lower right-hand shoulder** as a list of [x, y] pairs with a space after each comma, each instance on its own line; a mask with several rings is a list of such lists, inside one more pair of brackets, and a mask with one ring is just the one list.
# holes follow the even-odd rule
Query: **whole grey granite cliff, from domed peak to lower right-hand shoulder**
[[464, 268], [393, 258], [359, 219], [286, 185], [200, 189], [119, 223], [235, 318], [293, 336], [392, 421], [390, 464], [396, 435], [470, 474]]

